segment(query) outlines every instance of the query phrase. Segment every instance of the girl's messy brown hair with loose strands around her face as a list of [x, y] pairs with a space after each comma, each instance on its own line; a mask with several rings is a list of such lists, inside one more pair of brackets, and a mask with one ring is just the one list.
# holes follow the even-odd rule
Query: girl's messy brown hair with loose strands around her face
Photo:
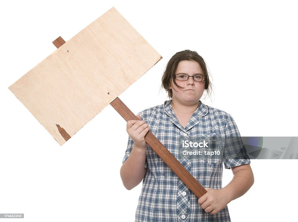
[[172, 99], [173, 96], [172, 90], [169, 89], [169, 87], [172, 84], [172, 79], [174, 84], [177, 87], [179, 87], [179, 85], [177, 85], [176, 83], [175, 72], [179, 62], [182, 60], [195, 61], [200, 64], [201, 68], [203, 69], [203, 74], [205, 76], [205, 90], [207, 91], [207, 94], [210, 95], [212, 90], [212, 84], [209, 81], [209, 74], [204, 59], [196, 51], [184, 50], [177, 52], [175, 55], [172, 56], [172, 58], [167, 63], [167, 67], [164, 70], [164, 74], [162, 75], [162, 87], [166, 90], [170, 99]]

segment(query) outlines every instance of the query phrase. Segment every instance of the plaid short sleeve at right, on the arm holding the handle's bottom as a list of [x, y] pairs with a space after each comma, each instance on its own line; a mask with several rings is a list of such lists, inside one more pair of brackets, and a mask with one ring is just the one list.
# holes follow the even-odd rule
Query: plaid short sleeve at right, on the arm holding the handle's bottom
[[225, 126], [223, 159], [226, 169], [250, 164], [250, 159], [242, 142], [238, 127], [231, 115], [229, 115]]

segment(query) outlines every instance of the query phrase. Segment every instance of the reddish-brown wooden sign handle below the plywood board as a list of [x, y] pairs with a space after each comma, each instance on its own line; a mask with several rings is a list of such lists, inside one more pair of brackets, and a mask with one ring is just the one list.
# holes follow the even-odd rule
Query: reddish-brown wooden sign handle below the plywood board
[[[138, 120], [131, 110], [117, 97], [111, 102], [111, 106], [125, 119]], [[165, 148], [165, 146], [152, 134], [148, 132], [145, 136], [145, 141], [148, 145], [159, 155], [160, 158], [173, 170], [173, 172], [179, 176], [179, 178], [190, 188], [191, 191], [200, 198], [207, 190], [191, 175], [184, 166], [171, 154], [171, 152]]]

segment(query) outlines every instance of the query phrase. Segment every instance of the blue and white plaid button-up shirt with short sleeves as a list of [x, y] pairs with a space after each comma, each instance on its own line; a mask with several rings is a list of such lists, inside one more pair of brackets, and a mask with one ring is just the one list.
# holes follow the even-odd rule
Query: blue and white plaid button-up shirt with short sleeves
[[[235, 146], [230, 146], [225, 140], [227, 137], [240, 137], [240, 133], [231, 115], [222, 110], [200, 101], [185, 128], [173, 112], [171, 101], [146, 109], [139, 115], [148, 123], [157, 139], [203, 187], [222, 188], [223, 163], [225, 168], [250, 163], [245, 149], [235, 150]], [[219, 148], [222, 155], [218, 160], [179, 159], [181, 139], [214, 136], [221, 138]], [[123, 163], [128, 159], [133, 146], [134, 141], [129, 137]], [[216, 215], [206, 213], [198, 205], [195, 194], [148, 145], [145, 168], [147, 172], [136, 209], [136, 221], [230, 221], [228, 207]]]

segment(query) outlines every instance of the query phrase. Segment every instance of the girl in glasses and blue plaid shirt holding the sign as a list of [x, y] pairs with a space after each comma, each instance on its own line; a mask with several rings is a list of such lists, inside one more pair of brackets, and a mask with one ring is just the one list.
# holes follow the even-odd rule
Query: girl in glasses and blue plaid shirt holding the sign
[[[143, 180], [136, 221], [230, 221], [227, 204], [246, 193], [254, 177], [242, 142], [235, 146], [229, 139], [240, 138], [231, 115], [200, 101], [204, 90], [209, 94], [211, 89], [203, 58], [195, 51], [177, 52], [167, 64], [162, 86], [171, 100], [127, 123], [128, 147], [120, 175], [128, 190]], [[149, 129], [205, 187], [206, 194], [198, 199], [146, 144]], [[220, 157], [181, 158], [181, 141], [197, 138], [216, 138]], [[234, 174], [224, 188], [223, 163]]]

